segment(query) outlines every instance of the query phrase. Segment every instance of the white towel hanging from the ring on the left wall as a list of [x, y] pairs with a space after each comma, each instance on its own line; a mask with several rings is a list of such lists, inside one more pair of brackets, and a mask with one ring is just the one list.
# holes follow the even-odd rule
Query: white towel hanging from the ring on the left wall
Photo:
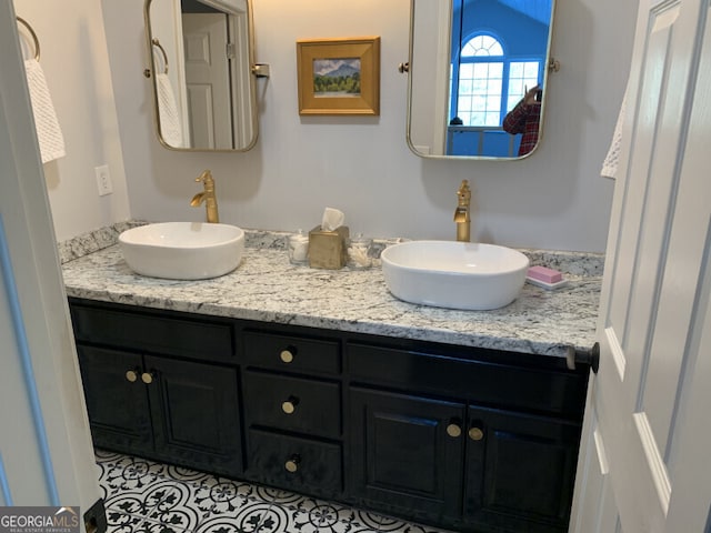
[[67, 155], [64, 151], [64, 137], [59, 128], [54, 105], [47, 87], [44, 72], [37, 59], [26, 59], [24, 70], [27, 83], [30, 89], [32, 114], [37, 128], [37, 139], [40, 143], [42, 163]]

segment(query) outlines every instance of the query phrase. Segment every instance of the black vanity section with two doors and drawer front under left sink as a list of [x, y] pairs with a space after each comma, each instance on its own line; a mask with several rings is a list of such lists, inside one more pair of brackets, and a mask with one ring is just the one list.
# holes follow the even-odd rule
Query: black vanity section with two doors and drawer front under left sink
[[[224, 364], [229, 326], [92, 304], [71, 305], [71, 313], [98, 447], [219, 474], [242, 473], [238, 369]], [[201, 352], [200, 340], [188, 339], [186, 331], [218, 335]]]

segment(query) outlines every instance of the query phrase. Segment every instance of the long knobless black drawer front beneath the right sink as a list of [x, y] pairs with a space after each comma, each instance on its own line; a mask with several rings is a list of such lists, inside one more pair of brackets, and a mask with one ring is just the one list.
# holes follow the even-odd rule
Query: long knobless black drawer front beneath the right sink
[[[525, 358], [527, 355], [521, 355]], [[392, 348], [348, 345], [351, 380], [452, 395], [498, 408], [582, 418], [587, 375]]]

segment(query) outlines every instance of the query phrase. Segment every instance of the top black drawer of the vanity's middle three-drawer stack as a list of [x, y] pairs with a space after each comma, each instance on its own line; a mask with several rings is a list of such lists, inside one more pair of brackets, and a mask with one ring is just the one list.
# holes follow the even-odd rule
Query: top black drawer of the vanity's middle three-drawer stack
[[321, 374], [341, 372], [341, 354], [336, 341], [246, 332], [244, 350], [249, 364], [264, 369]]

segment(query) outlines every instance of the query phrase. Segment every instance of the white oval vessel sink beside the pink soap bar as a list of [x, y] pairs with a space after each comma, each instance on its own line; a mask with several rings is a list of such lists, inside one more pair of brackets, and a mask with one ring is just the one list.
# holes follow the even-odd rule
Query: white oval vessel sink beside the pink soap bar
[[529, 260], [493, 244], [412, 241], [381, 254], [390, 292], [405, 302], [437, 308], [502, 308], [519, 295]]

